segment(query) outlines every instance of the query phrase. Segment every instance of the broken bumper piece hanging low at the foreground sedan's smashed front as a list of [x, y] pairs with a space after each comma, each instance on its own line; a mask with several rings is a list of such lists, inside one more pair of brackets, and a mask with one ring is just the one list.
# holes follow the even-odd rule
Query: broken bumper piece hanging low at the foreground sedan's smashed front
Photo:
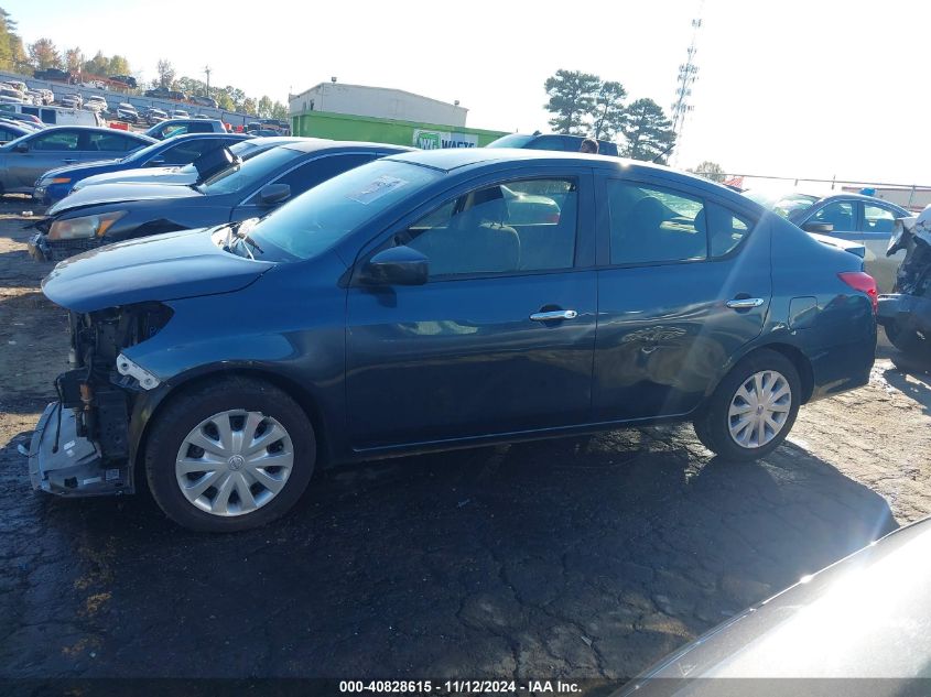
[[131, 492], [129, 466], [105, 462], [97, 446], [77, 435], [74, 410], [59, 402], [45, 407], [32, 434], [29, 477], [33, 489], [65, 497]]

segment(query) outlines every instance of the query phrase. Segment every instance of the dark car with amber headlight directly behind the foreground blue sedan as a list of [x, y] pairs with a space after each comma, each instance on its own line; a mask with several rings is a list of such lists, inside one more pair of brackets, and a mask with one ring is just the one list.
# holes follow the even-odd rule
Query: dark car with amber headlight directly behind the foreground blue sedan
[[[30, 253], [39, 261], [59, 261], [120, 240], [261, 217], [342, 172], [408, 150], [382, 143], [297, 142], [246, 162], [220, 161], [216, 174], [190, 186], [86, 187], [52, 206], [35, 224], [39, 233], [29, 241]], [[220, 150], [205, 156], [217, 152], [230, 153]]]

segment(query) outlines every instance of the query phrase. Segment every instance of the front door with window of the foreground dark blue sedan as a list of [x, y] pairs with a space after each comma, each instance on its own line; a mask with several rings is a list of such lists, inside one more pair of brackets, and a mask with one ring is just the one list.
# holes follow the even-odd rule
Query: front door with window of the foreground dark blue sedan
[[429, 277], [423, 285], [350, 284], [354, 449], [588, 422], [597, 311], [593, 200], [591, 172], [583, 170], [486, 179], [425, 206], [382, 238], [371, 253], [409, 247], [426, 257]]

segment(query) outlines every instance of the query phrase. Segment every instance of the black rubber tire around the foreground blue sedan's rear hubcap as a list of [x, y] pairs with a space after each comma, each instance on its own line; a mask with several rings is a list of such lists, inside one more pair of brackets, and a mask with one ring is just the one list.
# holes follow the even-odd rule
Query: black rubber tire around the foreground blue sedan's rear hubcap
[[[771, 440], [759, 447], [745, 447], [739, 445], [730, 435], [728, 416], [730, 403], [738, 389], [747, 380], [758, 372], [768, 370], [780, 373], [789, 383], [791, 392], [789, 412], [781, 428]], [[717, 385], [693, 422], [695, 435], [699, 436], [702, 445], [722, 459], [737, 462], [760, 459], [782, 445], [782, 442], [789, 435], [799, 413], [801, 395], [802, 384], [799, 371], [792, 361], [778, 351], [759, 349], [734, 366]]]

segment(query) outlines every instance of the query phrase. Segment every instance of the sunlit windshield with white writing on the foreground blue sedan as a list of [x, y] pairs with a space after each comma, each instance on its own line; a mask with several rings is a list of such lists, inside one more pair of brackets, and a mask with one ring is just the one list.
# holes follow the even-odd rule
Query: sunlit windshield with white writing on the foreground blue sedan
[[345, 172], [266, 216], [250, 232], [259, 247], [311, 259], [367, 220], [442, 177], [435, 170], [380, 160]]

